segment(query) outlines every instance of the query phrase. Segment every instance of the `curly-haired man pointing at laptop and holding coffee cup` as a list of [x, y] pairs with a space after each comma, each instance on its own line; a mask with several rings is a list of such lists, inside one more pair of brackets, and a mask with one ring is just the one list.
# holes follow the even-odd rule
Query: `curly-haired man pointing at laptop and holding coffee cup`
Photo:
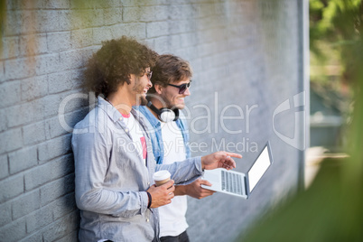
[[[88, 61], [85, 87], [98, 104], [73, 130], [80, 241], [159, 241], [158, 207], [169, 204], [175, 183], [195, 181], [203, 169], [234, 168], [219, 152], [183, 163], [156, 165], [148, 128], [133, 106], [146, 103], [157, 54], [133, 39], [103, 43]], [[153, 185], [153, 173], [172, 180]]]

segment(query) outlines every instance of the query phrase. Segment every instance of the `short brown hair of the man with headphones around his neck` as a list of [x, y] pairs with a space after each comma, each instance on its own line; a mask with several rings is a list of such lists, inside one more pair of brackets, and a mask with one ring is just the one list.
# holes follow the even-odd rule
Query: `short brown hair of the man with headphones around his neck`
[[[153, 68], [153, 85], [166, 87], [174, 81], [191, 78], [193, 72], [188, 61], [172, 54], [159, 55]], [[149, 89], [148, 93], [155, 93], [154, 86]]]

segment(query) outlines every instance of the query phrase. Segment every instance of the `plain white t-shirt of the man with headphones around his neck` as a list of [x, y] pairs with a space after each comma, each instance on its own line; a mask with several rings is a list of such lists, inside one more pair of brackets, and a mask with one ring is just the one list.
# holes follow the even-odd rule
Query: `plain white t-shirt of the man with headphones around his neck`
[[[186, 159], [184, 140], [176, 122], [162, 123], [163, 163], [181, 162]], [[179, 236], [188, 228], [185, 219], [187, 196], [175, 196], [172, 203], [159, 207], [160, 237]]]

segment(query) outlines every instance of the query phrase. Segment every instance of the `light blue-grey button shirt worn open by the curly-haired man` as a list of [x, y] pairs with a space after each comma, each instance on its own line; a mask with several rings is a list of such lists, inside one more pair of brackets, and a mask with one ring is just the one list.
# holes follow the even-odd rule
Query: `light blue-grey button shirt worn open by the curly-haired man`
[[147, 209], [145, 192], [154, 183], [153, 173], [168, 170], [176, 184], [202, 174], [200, 157], [157, 165], [144, 117], [134, 109], [131, 113], [145, 137], [146, 166], [123, 116], [103, 98], [73, 130], [80, 241], [159, 241], [158, 209]]

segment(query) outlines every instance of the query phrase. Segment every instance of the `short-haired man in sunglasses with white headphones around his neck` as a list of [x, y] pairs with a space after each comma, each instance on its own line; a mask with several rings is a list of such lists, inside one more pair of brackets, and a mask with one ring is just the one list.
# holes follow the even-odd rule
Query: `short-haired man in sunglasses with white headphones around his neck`
[[[185, 106], [184, 98], [191, 95], [192, 70], [189, 62], [173, 55], [160, 55], [153, 68], [153, 87], [149, 89], [147, 107], [139, 107], [149, 120], [154, 132], [151, 132], [153, 152], [157, 163], [168, 164], [184, 161], [191, 157], [189, 133], [185, 118], [179, 110]], [[172, 120], [164, 120], [163, 113], [172, 110]], [[178, 118], [179, 116], [179, 118]], [[186, 229], [185, 213], [189, 195], [196, 199], [208, 197], [214, 191], [200, 187], [210, 185], [209, 181], [196, 180], [188, 185], [175, 186], [172, 203], [159, 209], [160, 236], [165, 242], [189, 241]]]

